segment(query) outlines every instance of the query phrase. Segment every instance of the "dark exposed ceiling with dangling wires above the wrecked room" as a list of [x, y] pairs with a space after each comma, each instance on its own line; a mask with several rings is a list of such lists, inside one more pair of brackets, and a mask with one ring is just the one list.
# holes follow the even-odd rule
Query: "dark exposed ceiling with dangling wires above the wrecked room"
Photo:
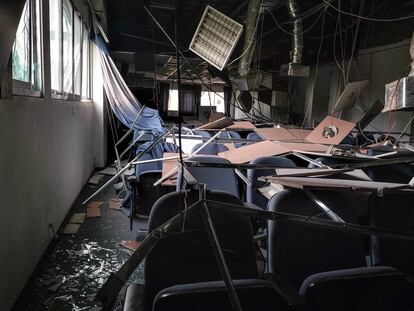
[[[330, 1], [333, 6], [340, 6], [345, 13], [354, 12], [372, 18], [401, 17], [414, 12], [414, 1], [411, 0], [399, 1], [398, 5], [391, 0]], [[262, 2], [263, 14], [257, 25], [256, 52], [252, 61], [255, 70], [278, 74], [281, 65], [290, 62], [293, 21], [287, 2]], [[389, 23], [389, 27], [384, 27], [382, 23], [368, 22], [339, 13], [322, 0], [301, 0], [298, 4], [304, 30], [303, 63], [306, 65], [315, 64], [317, 60], [334, 62], [335, 58], [347, 59], [352, 51], [355, 55], [360, 48], [406, 39], [413, 31], [412, 20]], [[209, 77], [207, 64], [188, 50], [206, 5], [213, 6], [243, 25], [246, 24], [248, 1], [182, 0], [181, 10], [177, 12], [180, 37], [178, 45], [194, 64], [188, 66], [181, 62], [185, 80], [197, 79], [197, 75]], [[115, 60], [122, 64], [127, 62], [129, 73], [155, 70], [158, 79], [174, 80], [174, 46], [144, 9], [146, 6], [169, 36], [174, 38], [174, 0], [118, 0], [107, 1], [106, 6], [110, 49]], [[243, 41], [244, 36], [237, 44], [231, 59], [242, 53]], [[123, 54], [128, 54], [128, 59]], [[190, 67], [196, 67], [197, 74], [192, 73]], [[232, 68], [227, 69], [232, 72]]]

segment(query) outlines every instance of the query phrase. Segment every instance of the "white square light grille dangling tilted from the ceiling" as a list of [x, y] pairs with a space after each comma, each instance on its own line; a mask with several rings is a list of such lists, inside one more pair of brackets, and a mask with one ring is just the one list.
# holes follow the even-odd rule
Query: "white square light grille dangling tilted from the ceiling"
[[190, 50], [223, 70], [242, 32], [241, 24], [208, 5], [191, 41]]

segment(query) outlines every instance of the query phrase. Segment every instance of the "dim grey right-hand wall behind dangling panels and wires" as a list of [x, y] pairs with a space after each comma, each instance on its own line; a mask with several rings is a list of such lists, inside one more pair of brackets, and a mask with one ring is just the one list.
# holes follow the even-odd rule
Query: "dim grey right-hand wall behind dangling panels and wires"
[[[401, 78], [410, 62], [410, 39], [403, 42], [380, 46], [367, 50], [360, 50], [353, 62], [349, 81], [369, 80], [369, 85], [360, 94], [358, 105], [345, 111], [341, 118], [349, 121], [358, 121], [363, 115], [362, 107], [370, 107], [376, 100], [384, 103], [385, 84]], [[321, 121], [335, 106], [343, 87], [341, 86], [342, 73], [336, 64], [322, 65], [318, 69], [315, 83], [315, 68], [306, 84], [301, 85], [300, 93], [306, 93], [304, 111], [308, 111], [307, 125], [313, 121]], [[299, 98], [303, 100], [302, 98]], [[295, 104], [298, 106], [298, 104]], [[410, 112], [393, 114], [394, 122], [390, 123], [388, 113], [380, 114], [367, 130], [388, 131], [389, 124], [394, 124], [392, 131], [401, 131], [411, 118]], [[408, 128], [408, 131], [410, 127]]]

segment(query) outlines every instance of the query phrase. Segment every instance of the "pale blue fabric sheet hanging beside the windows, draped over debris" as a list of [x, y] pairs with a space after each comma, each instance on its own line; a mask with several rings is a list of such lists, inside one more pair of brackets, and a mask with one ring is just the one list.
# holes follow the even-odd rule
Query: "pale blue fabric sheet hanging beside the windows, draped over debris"
[[[142, 105], [122, 78], [104, 41], [99, 36], [92, 36], [91, 39], [99, 48], [103, 83], [109, 104], [117, 118], [129, 128], [133, 125]], [[134, 129], [152, 133], [154, 136], [164, 133], [158, 111], [147, 107], [135, 122]]]

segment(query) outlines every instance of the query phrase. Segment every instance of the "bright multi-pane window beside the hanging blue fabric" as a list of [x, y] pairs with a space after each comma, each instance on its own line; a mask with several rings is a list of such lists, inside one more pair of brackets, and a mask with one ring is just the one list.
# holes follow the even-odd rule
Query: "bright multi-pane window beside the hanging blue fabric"
[[70, 0], [50, 0], [52, 90], [58, 96], [90, 96], [89, 32]]

